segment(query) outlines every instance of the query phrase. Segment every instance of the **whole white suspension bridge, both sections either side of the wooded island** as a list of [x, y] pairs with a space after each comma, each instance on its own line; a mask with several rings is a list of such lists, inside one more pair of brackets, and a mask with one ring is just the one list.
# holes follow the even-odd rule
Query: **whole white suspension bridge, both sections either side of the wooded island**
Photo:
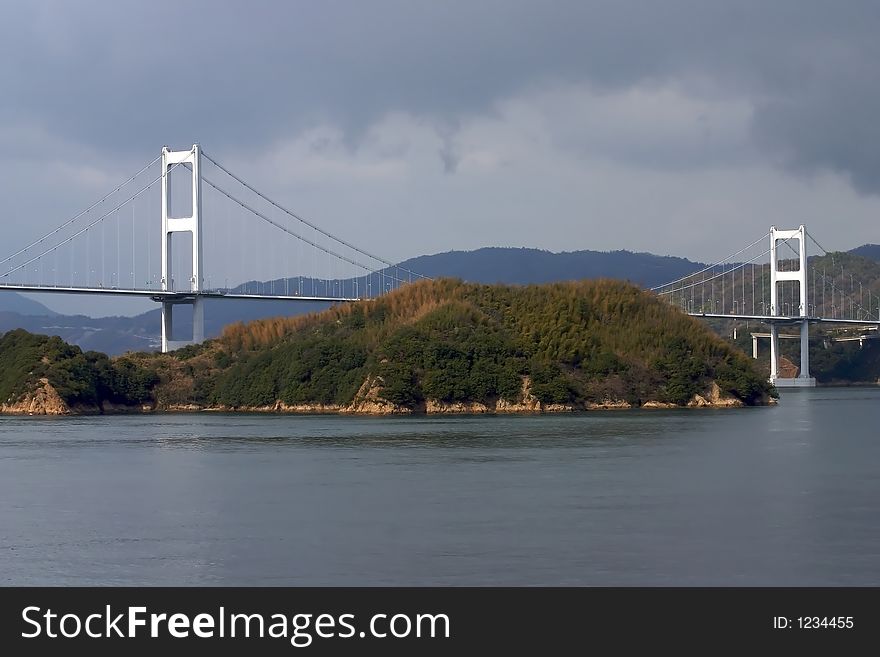
[[[808, 259], [808, 241], [823, 255]], [[206, 299], [351, 302], [426, 278], [305, 219], [198, 144], [163, 148], [109, 194], [0, 259], [0, 271], [0, 291], [152, 299], [161, 304], [163, 352], [204, 340]], [[771, 227], [652, 291], [692, 316], [767, 324], [771, 381], [811, 386], [811, 324], [861, 327], [860, 344], [880, 326], [880, 290], [858, 273], [805, 226]], [[182, 338], [173, 323], [180, 306], [192, 310], [192, 335]], [[778, 367], [779, 328], [786, 326], [800, 327], [794, 378], [781, 377]]]

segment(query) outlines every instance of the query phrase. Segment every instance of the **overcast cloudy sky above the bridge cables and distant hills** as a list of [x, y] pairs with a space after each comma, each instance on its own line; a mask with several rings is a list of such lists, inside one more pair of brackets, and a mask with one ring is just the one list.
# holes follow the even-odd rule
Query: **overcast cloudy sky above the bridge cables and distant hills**
[[0, 255], [194, 142], [395, 261], [709, 261], [771, 224], [880, 242], [875, 1], [0, 0], [0, 17]]

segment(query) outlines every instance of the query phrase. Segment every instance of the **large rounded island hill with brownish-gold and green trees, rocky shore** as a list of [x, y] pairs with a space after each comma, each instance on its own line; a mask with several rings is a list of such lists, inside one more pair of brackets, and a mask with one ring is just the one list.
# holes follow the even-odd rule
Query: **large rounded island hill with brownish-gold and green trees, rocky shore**
[[155, 370], [160, 408], [414, 411], [740, 405], [772, 392], [744, 354], [619, 281], [423, 281], [380, 299], [228, 327]]

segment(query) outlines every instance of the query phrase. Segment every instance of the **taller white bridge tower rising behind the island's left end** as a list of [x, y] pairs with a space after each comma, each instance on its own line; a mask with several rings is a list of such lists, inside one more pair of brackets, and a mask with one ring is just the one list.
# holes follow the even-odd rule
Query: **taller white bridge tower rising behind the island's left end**
[[[192, 208], [184, 217], [171, 216], [171, 180], [168, 175], [172, 167], [181, 166], [192, 173]], [[202, 291], [202, 175], [201, 151], [193, 144], [188, 151], [172, 151], [162, 148], [162, 290], [177, 292], [171, 270], [171, 235], [173, 233], [192, 235], [192, 272], [189, 285], [179, 290], [181, 297], [162, 301], [162, 353], [179, 349], [189, 344], [205, 340], [205, 307]], [[193, 307], [193, 327], [191, 340], [173, 340], [172, 320], [174, 306], [189, 304]]]

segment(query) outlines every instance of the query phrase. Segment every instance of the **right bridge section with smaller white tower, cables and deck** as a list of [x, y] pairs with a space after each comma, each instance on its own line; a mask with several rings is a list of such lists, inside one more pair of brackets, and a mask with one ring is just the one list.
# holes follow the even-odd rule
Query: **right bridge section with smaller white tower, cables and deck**
[[[822, 256], [807, 257], [808, 241]], [[793, 230], [771, 226], [748, 246], [651, 289], [694, 317], [769, 325], [768, 333], [752, 333], [753, 356], [758, 357], [758, 338], [769, 338], [770, 381], [779, 387], [811, 387], [816, 385], [810, 376], [811, 324], [851, 326], [860, 345], [880, 326], [880, 294], [840, 260], [841, 254], [835, 259], [804, 225]], [[800, 329], [796, 335], [780, 335], [781, 327], [794, 326]], [[780, 338], [800, 340], [795, 377], [780, 375]]]

